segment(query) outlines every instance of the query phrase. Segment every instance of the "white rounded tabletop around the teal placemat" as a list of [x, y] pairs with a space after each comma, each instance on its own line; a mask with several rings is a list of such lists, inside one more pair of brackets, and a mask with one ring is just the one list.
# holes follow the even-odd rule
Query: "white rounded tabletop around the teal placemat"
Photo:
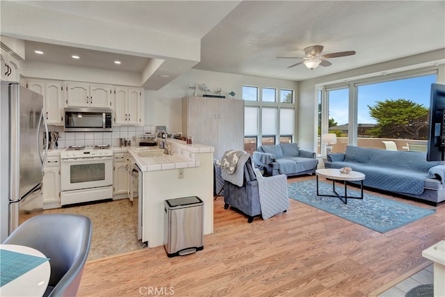
[[[37, 257], [46, 257], [42, 252], [29, 248], [28, 246], [0, 244], [0, 249]], [[20, 275], [19, 278], [8, 282], [8, 284], [5, 284], [3, 287], [0, 287], [0, 296], [43, 296], [44, 291], [48, 287], [50, 275], [51, 266], [49, 265], [49, 261], [47, 261], [31, 269], [31, 271]]]

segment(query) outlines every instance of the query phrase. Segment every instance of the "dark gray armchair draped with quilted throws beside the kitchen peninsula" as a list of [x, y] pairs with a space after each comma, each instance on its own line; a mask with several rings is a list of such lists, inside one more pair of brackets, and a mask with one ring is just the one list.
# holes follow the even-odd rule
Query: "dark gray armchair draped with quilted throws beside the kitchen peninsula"
[[243, 184], [239, 186], [225, 180], [225, 209], [231, 206], [243, 212], [248, 216], [248, 223], [252, 223], [254, 216], [261, 215], [266, 220], [286, 212], [289, 208], [286, 175], [261, 177], [257, 172], [257, 176], [252, 166], [252, 156], [236, 170], [243, 171]]

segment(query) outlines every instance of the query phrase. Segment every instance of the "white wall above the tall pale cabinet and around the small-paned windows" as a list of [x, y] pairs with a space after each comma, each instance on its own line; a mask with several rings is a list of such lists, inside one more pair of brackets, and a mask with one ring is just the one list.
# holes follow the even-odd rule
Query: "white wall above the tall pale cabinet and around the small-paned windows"
[[243, 85], [285, 88], [294, 90], [298, 94], [296, 81], [191, 69], [161, 90], [145, 90], [145, 125], [165, 125], [169, 133], [181, 131], [181, 98], [193, 95], [193, 90], [188, 87], [195, 84], [197, 84], [197, 96], [202, 96], [204, 94], [204, 90], [201, 88], [202, 83], [207, 85], [213, 95], [216, 95], [216, 91], [221, 88], [221, 95], [226, 98], [231, 98], [229, 93], [234, 91], [235, 99], [241, 99]]

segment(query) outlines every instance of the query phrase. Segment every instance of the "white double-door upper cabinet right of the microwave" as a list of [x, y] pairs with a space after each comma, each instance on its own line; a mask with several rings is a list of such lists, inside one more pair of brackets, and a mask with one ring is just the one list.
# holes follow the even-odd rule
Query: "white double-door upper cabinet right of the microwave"
[[115, 125], [144, 125], [143, 91], [143, 88], [115, 87]]

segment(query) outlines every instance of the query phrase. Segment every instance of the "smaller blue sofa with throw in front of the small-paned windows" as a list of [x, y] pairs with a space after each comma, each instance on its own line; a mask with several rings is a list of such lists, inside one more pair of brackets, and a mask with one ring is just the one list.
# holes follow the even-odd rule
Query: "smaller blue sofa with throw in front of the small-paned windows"
[[296, 143], [260, 145], [253, 161], [264, 176], [313, 174], [318, 166], [315, 152], [301, 150]]

